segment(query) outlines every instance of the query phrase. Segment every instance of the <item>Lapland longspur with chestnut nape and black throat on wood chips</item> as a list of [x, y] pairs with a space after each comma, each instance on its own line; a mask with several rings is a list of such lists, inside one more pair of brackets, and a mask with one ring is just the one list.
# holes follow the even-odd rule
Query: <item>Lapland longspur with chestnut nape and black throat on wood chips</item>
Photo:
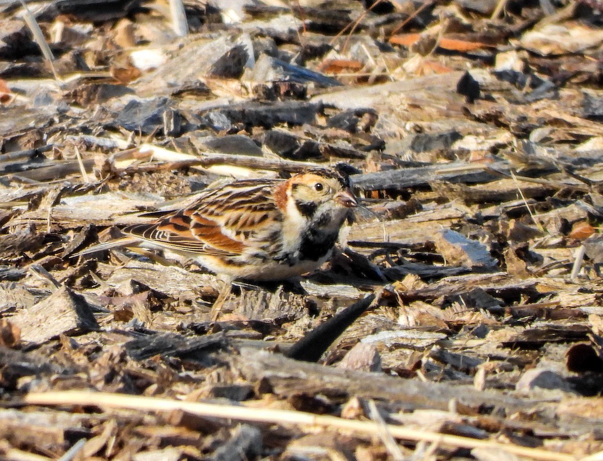
[[358, 206], [346, 174], [309, 169], [288, 180], [238, 180], [207, 189], [185, 209], [128, 225], [92, 246], [169, 249], [231, 280], [285, 280], [329, 260], [339, 229]]

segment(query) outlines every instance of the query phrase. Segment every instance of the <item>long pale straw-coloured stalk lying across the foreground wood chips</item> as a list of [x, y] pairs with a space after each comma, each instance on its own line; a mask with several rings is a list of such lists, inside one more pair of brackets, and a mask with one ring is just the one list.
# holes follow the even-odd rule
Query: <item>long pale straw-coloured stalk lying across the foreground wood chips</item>
[[[239, 421], [257, 421], [270, 424], [293, 424], [298, 427], [323, 427], [343, 431], [353, 431], [367, 436], [379, 435], [383, 428], [373, 421], [355, 421], [339, 418], [338, 416], [314, 415], [294, 410], [276, 410], [248, 408], [244, 406], [210, 404], [201, 402], [178, 401], [168, 398], [140, 397], [137, 395], [111, 394], [109, 392], [87, 392], [82, 390], [67, 390], [57, 392], [30, 392], [25, 395], [22, 403], [30, 405], [84, 405], [115, 409], [147, 410], [155, 412], [170, 412], [181, 410], [200, 416], [214, 418], [237, 419]], [[491, 440], [478, 440], [449, 434], [440, 434], [428, 430], [410, 429], [387, 424], [387, 430], [396, 439], [408, 441], [437, 442], [453, 447], [490, 448], [505, 450], [518, 456], [531, 457], [543, 461], [575, 461], [569, 454], [541, 450], [539, 448], [520, 447], [519, 445], [503, 444]]]

